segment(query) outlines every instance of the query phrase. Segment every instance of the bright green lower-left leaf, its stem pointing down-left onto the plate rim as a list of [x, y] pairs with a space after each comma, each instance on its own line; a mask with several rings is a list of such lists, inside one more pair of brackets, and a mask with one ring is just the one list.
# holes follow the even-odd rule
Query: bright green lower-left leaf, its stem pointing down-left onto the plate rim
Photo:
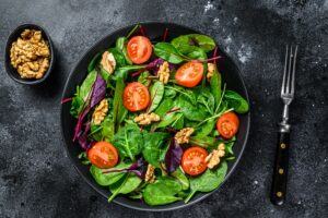
[[128, 194], [134, 191], [140, 184], [142, 180], [136, 174], [129, 172], [126, 173], [122, 179], [118, 182], [109, 185], [109, 191], [112, 192], [108, 202], [112, 202], [118, 194]]

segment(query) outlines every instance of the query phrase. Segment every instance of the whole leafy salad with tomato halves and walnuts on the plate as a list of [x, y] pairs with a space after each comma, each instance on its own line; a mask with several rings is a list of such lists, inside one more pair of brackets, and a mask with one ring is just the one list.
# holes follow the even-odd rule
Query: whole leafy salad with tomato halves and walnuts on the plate
[[112, 202], [188, 203], [225, 178], [241, 113], [248, 102], [226, 89], [212, 38], [200, 34], [151, 41], [137, 25], [94, 56], [77, 86], [73, 141]]

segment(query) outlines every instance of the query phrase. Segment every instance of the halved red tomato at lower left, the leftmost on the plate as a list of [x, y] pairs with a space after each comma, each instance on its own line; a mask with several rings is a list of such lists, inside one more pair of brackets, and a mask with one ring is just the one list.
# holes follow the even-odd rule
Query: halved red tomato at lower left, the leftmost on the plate
[[87, 150], [87, 158], [97, 168], [106, 169], [117, 165], [118, 154], [110, 143], [97, 142]]

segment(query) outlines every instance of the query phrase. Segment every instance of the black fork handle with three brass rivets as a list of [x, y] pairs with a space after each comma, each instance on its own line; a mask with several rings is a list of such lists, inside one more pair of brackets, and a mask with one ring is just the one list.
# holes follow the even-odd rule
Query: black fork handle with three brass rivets
[[282, 205], [285, 201], [289, 169], [290, 132], [279, 132], [273, 168], [271, 202]]

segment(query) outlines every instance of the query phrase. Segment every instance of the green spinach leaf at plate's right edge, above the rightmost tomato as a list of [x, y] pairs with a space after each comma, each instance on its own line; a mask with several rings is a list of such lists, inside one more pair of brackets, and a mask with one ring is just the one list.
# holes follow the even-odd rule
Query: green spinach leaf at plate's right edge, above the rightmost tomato
[[233, 90], [225, 92], [224, 100], [226, 100], [229, 107], [232, 107], [237, 113], [245, 113], [249, 110], [247, 100]]

